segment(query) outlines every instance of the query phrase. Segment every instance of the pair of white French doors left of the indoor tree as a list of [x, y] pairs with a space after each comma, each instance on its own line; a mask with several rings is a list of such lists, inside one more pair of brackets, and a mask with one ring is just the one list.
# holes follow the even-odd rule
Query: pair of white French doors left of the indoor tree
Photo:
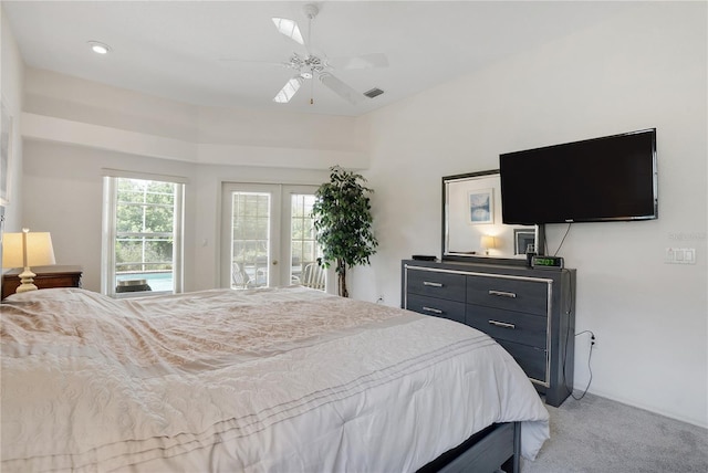
[[310, 217], [316, 186], [225, 183], [221, 286], [300, 283], [319, 254]]

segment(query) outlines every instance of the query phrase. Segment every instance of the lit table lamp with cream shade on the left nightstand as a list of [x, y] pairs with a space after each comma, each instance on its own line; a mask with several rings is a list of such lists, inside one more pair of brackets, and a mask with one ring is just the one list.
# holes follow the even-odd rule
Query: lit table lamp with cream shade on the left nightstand
[[6, 233], [2, 239], [2, 267], [24, 267], [19, 275], [22, 284], [17, 293], [37, 291], [34, 274], [30, 266], [56, 264], [52, 235], [49, 232], [33, 232], [22, 229], [21, 233]]

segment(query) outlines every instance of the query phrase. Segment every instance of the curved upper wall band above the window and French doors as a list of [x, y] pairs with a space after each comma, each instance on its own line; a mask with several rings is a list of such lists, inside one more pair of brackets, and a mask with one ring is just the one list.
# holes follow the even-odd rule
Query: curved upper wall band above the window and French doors
[[227, 166], [368, 166], [354, 117], [199, 107], [29, 67], [25, 139]]

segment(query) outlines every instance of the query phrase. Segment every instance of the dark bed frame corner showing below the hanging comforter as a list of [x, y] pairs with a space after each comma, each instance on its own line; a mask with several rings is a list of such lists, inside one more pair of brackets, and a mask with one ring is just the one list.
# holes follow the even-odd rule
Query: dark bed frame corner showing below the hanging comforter
[[494, 423], [451, 449], [417, 473], [507, 473], [521, 471], [521, 423]]

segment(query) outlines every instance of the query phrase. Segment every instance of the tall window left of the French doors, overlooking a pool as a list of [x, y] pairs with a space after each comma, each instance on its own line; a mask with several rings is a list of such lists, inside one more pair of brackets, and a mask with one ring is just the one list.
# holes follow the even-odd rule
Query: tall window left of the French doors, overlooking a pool
[[102, 292], [181, 292], [184, 181], [119, 174], [104, 178]]

